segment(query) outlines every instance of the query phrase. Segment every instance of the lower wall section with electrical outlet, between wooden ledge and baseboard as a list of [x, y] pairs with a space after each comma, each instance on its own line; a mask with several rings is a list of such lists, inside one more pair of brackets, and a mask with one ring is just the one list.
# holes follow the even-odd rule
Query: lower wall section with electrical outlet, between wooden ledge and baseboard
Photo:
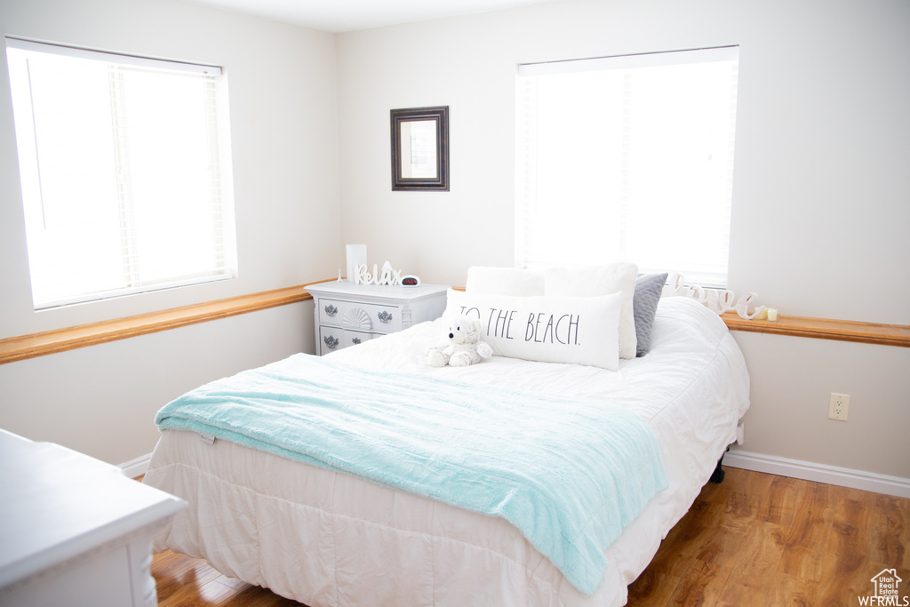
[[[752, 379], [739, 451], [910, 479], [910, 348], [733, 333]], [[849, 419], [828, 420], [831, 392]]]

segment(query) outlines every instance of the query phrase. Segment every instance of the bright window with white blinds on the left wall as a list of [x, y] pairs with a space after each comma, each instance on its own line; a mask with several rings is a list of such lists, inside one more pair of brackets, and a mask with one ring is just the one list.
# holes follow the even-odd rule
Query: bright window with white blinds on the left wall
[[35, 309], [236, 275], [221, 70], [6, 39]]

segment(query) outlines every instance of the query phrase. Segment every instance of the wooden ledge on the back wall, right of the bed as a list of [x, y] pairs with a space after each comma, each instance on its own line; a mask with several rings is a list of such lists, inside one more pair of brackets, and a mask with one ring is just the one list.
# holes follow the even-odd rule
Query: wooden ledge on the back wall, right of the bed
[[799, 316], [778, 316], [776, 322], [743, 320], [735, 312], [724, 312], [721, 318], [732, 331], [910, 348], [910, 325], [883, 325], [875, 322], [810, 319]]

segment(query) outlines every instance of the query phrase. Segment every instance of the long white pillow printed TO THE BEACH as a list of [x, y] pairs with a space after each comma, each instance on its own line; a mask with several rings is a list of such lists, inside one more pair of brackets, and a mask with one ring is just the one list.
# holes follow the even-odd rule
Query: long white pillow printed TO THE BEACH
[[619, 369], [620, 294], [513, 297], [449, 290], [446, 317], [480, 319], [496, 356]]

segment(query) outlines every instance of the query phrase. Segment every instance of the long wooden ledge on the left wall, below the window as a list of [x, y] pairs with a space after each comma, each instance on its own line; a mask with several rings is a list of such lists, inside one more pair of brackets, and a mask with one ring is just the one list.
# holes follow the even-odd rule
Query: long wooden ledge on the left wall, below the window
[[0, 365], [312, 299], [306, 285], [0, 339]]

